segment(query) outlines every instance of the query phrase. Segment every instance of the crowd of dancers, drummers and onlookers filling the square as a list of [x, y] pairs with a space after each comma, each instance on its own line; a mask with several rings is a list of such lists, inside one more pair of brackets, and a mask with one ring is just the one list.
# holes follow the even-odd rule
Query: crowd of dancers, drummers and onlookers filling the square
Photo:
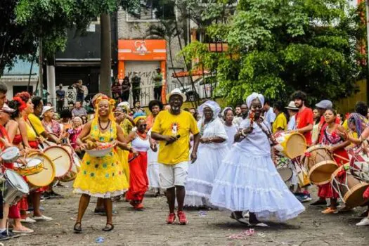
[[[187, 224], [184, 207], [228, 209], [232, 219], [249, 226], [268, 226], [268, 219], [286, 221], [304, 212], [302, 202], [311, 201], [311, 195], [309, 186], [298, 181], [292, 161], [292, 179], [285, 182], [278, 173], [276, 134], [302, 134], [308, 147], [326, 146], [339, 167], [349, 162], [350, 149], [366, 150], [369, 142], [365, 103], [356, 103], [355, 112], [343, 118], [328, 100], [308, 108], [302, 91], [294, 92], [287, 105], [252, 93], [234, 109], [222, 110], [215, 101], [205, 101], [199, 108], [182, 110], [186, 95], [174, 89], [167, 94], [168, 105], [150, 101], [149, 113], [139, 101], [131, 108], [127, 100], [117, 103], [98, 93], [91, 101], [93, 115], [87, 115], [79, 101], [72, 110], [56, 114], [39, 96], [22, 92], [7, 100], [6, 91], [0, 84], [3, 152], [16, 146], [27, 156], [53, 143], [71, 146], [82, 159], [73, 183], [74, 193], [81, 194], [75, 233], [82, 233], [91, 196], [98, 198], [95, 212], [106, 214], [103, 231], [112, 231], [112, 202], [127, 200], [134, 209], [144, 209], [149, 188], [155, 195], [166, 195], [167, 224], [177, 217], [179, 224]], [[92, 155], [89, 150], [95, 144], [109, 145], [109, 151]], [[0, 161], [3, 171], [14, 169], [13, 163]], [[60, 197], [53, 191], [55, 183], [33, 187], [15, 205], [4, 202], [0, 240], [33, 233], [25, 224], [53, 220], [41, 212], [40, 200]], [[363, 195], [368, 199], [367, 193]], [[339, 198], [339, 192], [325, 183], [318, 186], [318, 200], [310, 205], [325, 207], [330, 199], [322, 213], [335, 214], [340, 211]], [[363, 216], [357, 226], [369, 225], [368, 211]], [[10, 219], [12, 230], [7, 226]]]

